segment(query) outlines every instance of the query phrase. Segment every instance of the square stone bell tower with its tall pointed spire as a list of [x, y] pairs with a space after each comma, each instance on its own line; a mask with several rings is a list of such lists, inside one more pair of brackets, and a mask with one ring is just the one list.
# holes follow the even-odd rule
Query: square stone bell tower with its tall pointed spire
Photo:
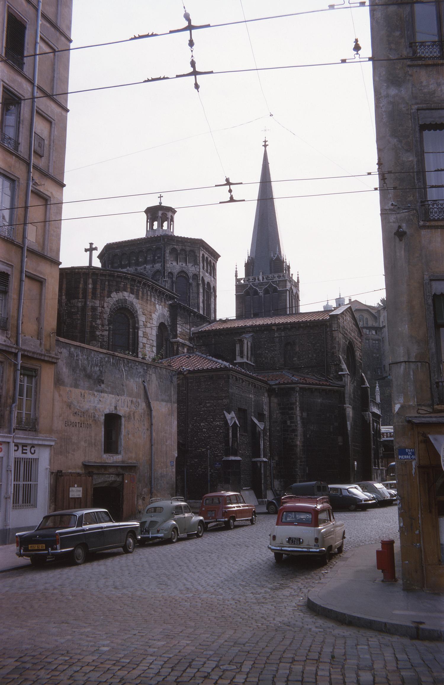
[[245, 276], [235, 273], [236, 319], [299, 312], [299, 276], [295, 281], [283, 256], [279, 236], [267, 140], [263, 141], [261, 182], [257, 196], [250, 253]]

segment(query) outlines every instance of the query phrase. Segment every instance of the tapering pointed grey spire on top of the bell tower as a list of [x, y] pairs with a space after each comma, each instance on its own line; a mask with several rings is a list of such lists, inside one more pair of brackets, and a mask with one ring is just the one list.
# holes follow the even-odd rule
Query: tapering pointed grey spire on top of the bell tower
[[278, 255], [282, 258], [267, 147], [268, 143], [265, 138], [263, 141], [261, 183], [259, 184], [250, 249], [250, 256], [254, 260], [254, 271], [251, 275], [254, 276], [259, 276], [260, 272], [264, 275], [272, 273], [270, 264], [272, 256]]

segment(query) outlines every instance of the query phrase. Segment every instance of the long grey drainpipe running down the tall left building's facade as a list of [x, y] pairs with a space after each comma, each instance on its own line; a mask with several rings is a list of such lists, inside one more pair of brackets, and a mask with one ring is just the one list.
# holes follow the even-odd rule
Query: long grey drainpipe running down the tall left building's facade
[[21, 363], [22, 363], [22, 316], [23, 316], [23, 299], [25, 295], [25, 272], [26, 272], [26, 251], [27, 251], [27, 235], [28, 235], [28, 221], [29, 221], [29, 202], [31, 201], [31, 185], [32, 185], [32, 164], [34, 162], [34, 125], [36, 122], [36, 97], [37, 97], [37, 72], [38, 72], [38, 47], [40, 43], [40, 16], [42, 14], [42, 0], [37, 3], [37, 17], [36, 17], [36, 42], [34, 46], [34, 75], [32, 82], [32, 100], [31, 100], [31, 120], [29, 122], [29, 163], [26, 184], [25, 197], [25, 216], [23, 218], [23, 247], [20, 273], [20, 290], [18, 295], [18, 312], [17, 312], [17, 361], [16, 373], [14, 382], [14, 401], [10, 409], [10, 449], [8, 450], [8, 464], [6, 466], [6, 511], [5, 511], [5, 532], [7, 542], [9, 543], [10, 527], [11, 527], [11, 510], [12, 510], [12, 488], [14, 479], [12, 478], [12, 464], [14, 464], [14, 433], [15, 433], [15, 417], [16, 407], [18, 403], [18, 386], [20, 385]]

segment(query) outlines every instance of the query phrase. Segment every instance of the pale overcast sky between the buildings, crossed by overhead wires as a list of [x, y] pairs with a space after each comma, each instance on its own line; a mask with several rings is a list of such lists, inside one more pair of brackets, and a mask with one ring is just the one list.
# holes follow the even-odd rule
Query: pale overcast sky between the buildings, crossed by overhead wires
[[[368, 8], [328, 10], [328, 0], [189, 0], [185, 8], [194, 25], [211, 25], [193, 31], [196, 69], [215, 72], [198, 76], [199, 92], [194, 79], [172, 78], [191, 71], [188, 33], [168, 33], [186, 24], [181, 1], [126, 0], [125, 11], [121, 0], [73, 3], [73, 48], [167, 35], [71, 51], [70, 91], [135, 85], [68, 98], [62, 266], [88, 264], [91, 241], [100, 251], [144, 236], [144, 209], [161, 193], [177, 209], [174, 232], [220, 254], [218, 318], [234, 316], [235, 266], [243, 276], [266, 136], [301, 311], [322, 309], [339, 290], [377, 303], [385, 292], [378, 180], [367, 175], [377, 160]], [[293, 16], [277, 16], [285, 14]], [[170, 79], [143, 83], [159, 76]], [[226, 176], [242, 183], [233, 196], [244, 202], [220, 204], [227, 188], [215, 186]]]

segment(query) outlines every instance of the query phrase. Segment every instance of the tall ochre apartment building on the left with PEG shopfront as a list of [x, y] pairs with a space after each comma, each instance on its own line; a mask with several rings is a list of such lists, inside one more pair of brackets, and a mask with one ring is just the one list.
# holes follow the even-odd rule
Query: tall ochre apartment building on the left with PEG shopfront
[[47, 512], [71, 0], [0, 1], [0, 543]]

